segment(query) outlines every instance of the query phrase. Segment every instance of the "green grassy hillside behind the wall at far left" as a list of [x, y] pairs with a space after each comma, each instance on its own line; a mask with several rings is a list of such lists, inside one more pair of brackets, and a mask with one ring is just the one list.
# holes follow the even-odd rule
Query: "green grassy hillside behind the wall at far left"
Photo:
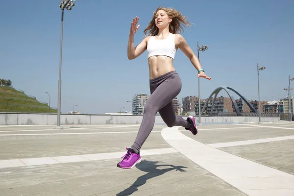
[[[0, 86], [0, 112], [49, 113], [49, 106], [12, 87]], [[50, 113], [57, 113], [50, 109]]]

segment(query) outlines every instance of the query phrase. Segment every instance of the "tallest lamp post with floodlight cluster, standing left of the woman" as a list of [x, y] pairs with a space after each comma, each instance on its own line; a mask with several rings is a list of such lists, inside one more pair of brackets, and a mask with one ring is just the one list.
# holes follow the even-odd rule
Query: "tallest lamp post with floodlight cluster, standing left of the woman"
[[58, 5], [61, 8], [61, 34], [60, 34], [60, 54], [59, 54], [59, 80], [58, 80], [58, 104], [57, 104], [57, 127], [60, 127], [60, 106], [61, 106], [61, 60], [62, 60], [62, 39], [63, 39], [63, 13], [64, 8], [71, 10], [75, 0], [61, 0]]

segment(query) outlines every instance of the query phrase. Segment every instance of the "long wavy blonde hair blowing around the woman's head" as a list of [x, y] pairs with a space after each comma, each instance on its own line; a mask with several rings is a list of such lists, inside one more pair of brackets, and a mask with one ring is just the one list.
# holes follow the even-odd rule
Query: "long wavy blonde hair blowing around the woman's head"
[[181, 31], [184, 31], [184, 28], [182, 25], [191, 26], [191, 23], [187, 21], [187, 17], [182, 16], [181, 12], [173, 8], [158, 7], [153, 12], [152, 20], [149, 22], [147, 28], [144, 29], [145, 35], [148, 34], [151, 36], [155, 36], [158, 34], [158, 28], [155, 25], [155, 17], [156, 17], [156, 13], [159, 10], [165, 11], [168, 14], [168, 16], [172, 18], [172, 22], [170, 23], [170, 26], [169, 26], [169, 30], [171, 33], [176, 34], [176, 33], [180, 33]]

